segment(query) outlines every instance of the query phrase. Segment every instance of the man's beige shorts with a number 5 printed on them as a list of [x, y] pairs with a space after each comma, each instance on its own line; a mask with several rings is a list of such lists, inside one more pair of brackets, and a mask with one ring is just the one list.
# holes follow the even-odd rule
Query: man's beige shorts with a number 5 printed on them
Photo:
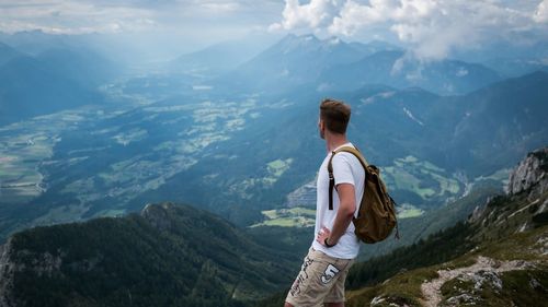
[[344, 302], [344, 282], [353, 259], [339, 259], [310, 248], [285, 300], [295, 307]]

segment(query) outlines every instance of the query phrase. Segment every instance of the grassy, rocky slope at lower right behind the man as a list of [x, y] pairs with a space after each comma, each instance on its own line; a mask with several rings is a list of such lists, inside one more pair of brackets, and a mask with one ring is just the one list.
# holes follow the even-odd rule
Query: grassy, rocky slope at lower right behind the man
[[[481, 306], [534, 306], [532, 297], [548, 299], [548, 225], [544, 220], [534, 222], [535, 216], [541, 214], [539, 204], [547, 199], [548, 192], [537, 197], [522, 193], [493, 198], [472, 223], [458, 224], [422, 244], [356, 264], [349, 276], [349, 284], [355, 290], [349, 292], [347, 306], [388, 306], [390, 303], [430, 306], [421, 292], [425, 281], [439, 278], [439, 270], [469, 270], [480, 257], [493, 259], [495, 264], [477, 272], [476, 279], [500, 280], [502, 286], [495, 283], [478, 286], [477, 280], [470, 282], [463, 274], [444, 280], [441, 306], [448, 305], [450, 297], [458, 304]], [[526, 224], [528, 229], [523, 228]], [[422, 265], [425, 262], [433, 265]], [[504, 263], [523, 264], [523, 268], [492, 273]], [[411, 268], [419, 269], [407, 270]], [[396, 274], [384, 283], [359, 288], [380, 282], [392, 272]]]

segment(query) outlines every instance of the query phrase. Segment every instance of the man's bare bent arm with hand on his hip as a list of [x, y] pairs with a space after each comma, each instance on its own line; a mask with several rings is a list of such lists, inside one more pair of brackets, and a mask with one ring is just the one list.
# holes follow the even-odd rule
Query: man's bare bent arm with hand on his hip
[[316, 240], [318, 240], [322, 245], [326, 245], [326, 238], [328, 239], [329, 245], [335, 245], [342, 237], [342, 235], [346, 232], [346, 228], [354, 217], [354, 212], [356, 211], [356, 196], [354, 185], [340, 184], [336, 186], [336, 192], [339, 193], [340, 205], [339, 210], [336, 211], [333, 229], [330, 231], [326, 227], [322, 227], [321, 232], [316, 238]]

